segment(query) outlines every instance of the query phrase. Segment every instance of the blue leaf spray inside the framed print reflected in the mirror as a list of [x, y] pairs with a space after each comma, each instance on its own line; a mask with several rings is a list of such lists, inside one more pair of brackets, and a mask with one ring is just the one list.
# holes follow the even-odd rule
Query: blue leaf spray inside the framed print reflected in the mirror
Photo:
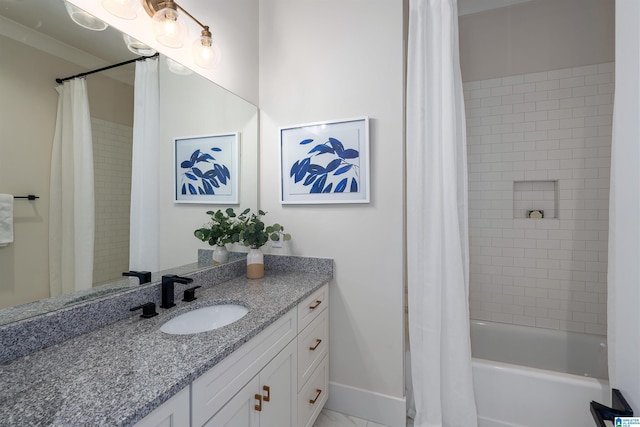
[[214, 157], [215, 153], [222, 151], [220, 147], [210, 147], [209, 152], [197, 149], [189, 155], [188, 160], [180, 162], [180, 168], [182, 168], [181, 194], [214, 195], [218, 191], [217, 189], [230, 183], [231, 172], [229, 168], [216, 161]]

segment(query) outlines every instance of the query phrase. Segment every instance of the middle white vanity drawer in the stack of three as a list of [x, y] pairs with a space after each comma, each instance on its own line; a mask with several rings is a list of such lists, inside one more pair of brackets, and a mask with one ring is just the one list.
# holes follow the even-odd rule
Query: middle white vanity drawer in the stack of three
[[298, 335], [298, 389], [309, 380], [328, 353], [329, 310], [322, 310]]

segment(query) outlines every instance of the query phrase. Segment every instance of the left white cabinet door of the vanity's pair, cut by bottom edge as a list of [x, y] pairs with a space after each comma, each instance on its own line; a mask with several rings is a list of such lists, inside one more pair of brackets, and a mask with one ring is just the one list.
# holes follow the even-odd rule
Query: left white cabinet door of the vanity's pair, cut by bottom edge
[[233, 399], [218, 411], [206, 424], [206, 427], [258, 427], [260, 425], [260, 410], [264, 409], [264, 402], [256, 399], [256, 392], [260, 381], [258, 377], [249, 381]]

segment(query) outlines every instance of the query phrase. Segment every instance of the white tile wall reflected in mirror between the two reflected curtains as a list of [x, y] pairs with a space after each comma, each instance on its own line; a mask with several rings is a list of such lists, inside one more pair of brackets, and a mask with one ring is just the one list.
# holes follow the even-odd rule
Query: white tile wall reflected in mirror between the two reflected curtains
[[129, 209], [133, 128], [92, 118], [96, 234], [94, 285], [129, 270]]

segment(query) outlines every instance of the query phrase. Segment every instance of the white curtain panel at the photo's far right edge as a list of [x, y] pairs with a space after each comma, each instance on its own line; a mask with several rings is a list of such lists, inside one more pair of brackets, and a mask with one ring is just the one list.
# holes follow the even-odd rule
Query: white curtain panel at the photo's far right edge
[[616, 1], [616, 116], [612, 151], [609, 260], [609, 372], [611, 386], [640, 412], [640, 3]]

